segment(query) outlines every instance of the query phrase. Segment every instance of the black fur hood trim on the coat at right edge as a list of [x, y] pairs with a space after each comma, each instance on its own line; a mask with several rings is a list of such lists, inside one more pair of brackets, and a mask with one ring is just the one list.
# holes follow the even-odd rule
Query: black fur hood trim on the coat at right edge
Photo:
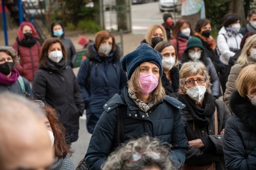
[[248, 99], [241, 97], [237, 90], [232, 93], [229, 104], [233, 113], [242, 120], [245, 126], [256, 131], [256, 106]]

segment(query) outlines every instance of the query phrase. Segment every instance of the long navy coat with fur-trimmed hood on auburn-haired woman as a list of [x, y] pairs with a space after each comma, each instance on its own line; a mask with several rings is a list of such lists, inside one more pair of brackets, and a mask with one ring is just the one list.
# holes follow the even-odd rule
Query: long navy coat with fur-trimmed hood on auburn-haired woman
[[[94, 127], [104, 111], [103, 105], [116, 93], [122, 93], [127, 78], [119, 62], [121, 58], [119, 46], [115, 46], [109, 56], [100, 56], [92, 43], [87, 45], [86, 52], [87, 58], [81, 63], [77, 82], [79, 82], [83, 101], [87, 108], [87, 131], [93, 133]], [[88, 75], [90, 61], [91, 70]], [[89, 90], [87, 89], [87, 78], [89, 78]]]

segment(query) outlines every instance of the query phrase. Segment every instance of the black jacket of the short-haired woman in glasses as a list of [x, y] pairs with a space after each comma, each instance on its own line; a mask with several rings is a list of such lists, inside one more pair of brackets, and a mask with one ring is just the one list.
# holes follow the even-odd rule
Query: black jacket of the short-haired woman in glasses
[[[180, 95], [178, 99], [180, 99], [182, 96], [184, 95]], [[210, 138], [210, 142], [204, 143], [204, 149], [197, 149], [191, 146], [188, 147], [188, 150], [186, 150], [186, 165], [207, 165], [215, 163], [216, 170], [225, 169], [223, 156], [223, 135], [219, 134], [225, 128], [226, 121], [231, 114], [223, 101], [216, 99], [215, 105], [218, 116], [218, 135], [215, 135], [214, 114], [212, 115], [210, 124], [208, 126], [201, 127], [200, 124], [195, 122], [195, 119], [187, 107], [181, 111], [188, 141], [203, 137]], [[203, 141], [205, 142], [206, 140]]]

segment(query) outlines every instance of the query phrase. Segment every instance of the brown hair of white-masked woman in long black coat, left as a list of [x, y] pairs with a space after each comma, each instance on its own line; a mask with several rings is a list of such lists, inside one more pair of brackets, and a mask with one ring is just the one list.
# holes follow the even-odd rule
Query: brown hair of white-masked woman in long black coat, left
[[59, 43], [61, 45], [61, 51], [63, 54], [63, 58], [66, 60], [67, 55], [66, 55], [65, 46], [62, 44], [61, 40], [59, 40], [57, 38], [48, 38], [48, 39], [46, 39], [46, 41], [44, 41], [44, 44], [42, 45], [42, 48], [41, 48], [41, 51], [39, 54], [39, 58], [38, 58], [39, 65], [46, 66], [46, 63], [48, 61], [48, 50], [53, 44], [56, 44], [56, 43]]

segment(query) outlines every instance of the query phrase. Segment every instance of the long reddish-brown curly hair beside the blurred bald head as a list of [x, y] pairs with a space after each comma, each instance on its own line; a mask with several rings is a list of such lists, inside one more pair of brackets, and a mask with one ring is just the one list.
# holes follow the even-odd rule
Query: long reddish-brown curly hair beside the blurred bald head
[[65, 128], [61, 124], [55, 109], [50, 105], [44, 105], [43, 108], [50, 122], [51, 129], [53, 129], [55, 156], [58, 158], [66, 158], [67, 154], [71, 156], [70, 146], [65, 141]]

